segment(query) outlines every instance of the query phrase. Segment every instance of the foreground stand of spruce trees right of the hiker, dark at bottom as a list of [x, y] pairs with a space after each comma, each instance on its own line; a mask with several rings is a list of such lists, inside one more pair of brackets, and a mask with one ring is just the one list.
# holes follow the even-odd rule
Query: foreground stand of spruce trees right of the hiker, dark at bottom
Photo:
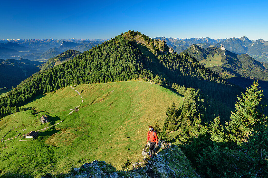
[[224, 124], [220, 115], [202, 122], [202, 116], [187, 114], [190, 93], [188, 88], [188, 102], [181, 108], [174, 102], [168, 107], [162, 129], [154, 126], [158, 135], [175, 142], [202, 177], [267, 177], [268, 122], [258, 81], [237, 96], [235, 110]]

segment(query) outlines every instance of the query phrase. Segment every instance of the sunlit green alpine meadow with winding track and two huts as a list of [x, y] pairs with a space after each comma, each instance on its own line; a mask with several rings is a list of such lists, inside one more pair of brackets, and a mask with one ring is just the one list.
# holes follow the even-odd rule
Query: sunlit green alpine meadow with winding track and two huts
[[[177, 107], [183, 102], [176, 93], [144, 82], [86, 84], [75, 89], [84, 103], [55, 128], [39, 133], [33, 141], [19, 141], [20, 137], [0, 142], [1, 170], [21, 169], [40, 177], [94, 159], [120, 169], [127, 158], [142, 158], [147, 127], [156, 122], [162, 127], [166, 108], [173, 101]], [[40, 95], [23, 106], [26, 111], [0, 119], [0, 139], [10, 129], [4, 140], [58, 123], [80, 103], [70, 87]], [[41, 115], [49, 115], [51, 122], [41, 125]]]

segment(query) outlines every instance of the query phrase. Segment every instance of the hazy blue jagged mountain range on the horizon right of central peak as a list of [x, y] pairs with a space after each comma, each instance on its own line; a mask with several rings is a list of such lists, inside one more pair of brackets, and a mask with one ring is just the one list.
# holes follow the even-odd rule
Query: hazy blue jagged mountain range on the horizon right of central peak
[[237, 54], [247, 53], [258, 61], [268, 62], [268, 41], [265, 41], [261, 38], [255, 41], [249, 40], [245, 36], [241, 38], [233, 37], [217, 40], [211, 39], [209, 37], [189, 39], [156, 37], [155, 39], [164, 40], [169, 47], [172, 47], [177, 52], [186, 50], [192, 44], [196, 44], [202, 48], [223, 46], [230, 52]]

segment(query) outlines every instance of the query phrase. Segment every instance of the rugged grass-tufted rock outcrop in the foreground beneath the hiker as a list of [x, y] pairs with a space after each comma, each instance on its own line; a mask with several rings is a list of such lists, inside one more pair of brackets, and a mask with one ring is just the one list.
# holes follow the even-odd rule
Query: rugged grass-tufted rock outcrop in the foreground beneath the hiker
[[116, 171], [105, 161], [92, 161], [73, 169], [68, 178], [171, 178], [199, 177], [181, 150], [171, 143], [159, 140], [157, 155], [148, 157], [148, 146], [142, 151], [143, 159], [134, 162], [126, 171]]

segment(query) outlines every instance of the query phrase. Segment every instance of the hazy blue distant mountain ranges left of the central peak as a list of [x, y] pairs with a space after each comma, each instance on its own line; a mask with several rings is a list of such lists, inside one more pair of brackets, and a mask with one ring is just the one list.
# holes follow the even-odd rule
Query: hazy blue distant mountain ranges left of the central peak
[[87, 51], [101, 44], [102, 39], [9, 39], [0, 40], [0, 59], [49, 59], [68, 49]]

